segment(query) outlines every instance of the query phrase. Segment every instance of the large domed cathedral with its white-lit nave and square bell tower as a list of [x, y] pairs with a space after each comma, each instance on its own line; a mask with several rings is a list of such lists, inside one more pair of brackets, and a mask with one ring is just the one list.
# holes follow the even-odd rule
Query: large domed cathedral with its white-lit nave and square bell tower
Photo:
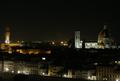
[[[109, 30], [107, 29], [107, 26], [104, 25], [104, 28], [100, 33], [98, 34], [98, 40], [97, 41], [83, 41], [80, 40], [80, 31], [75, 31], [75, 48], [95, 48], [95, 49], [104, 49], [104, 48], [117, 48], [115, 45], [115, 42], [113, 41], [111, 34]], [[70, 44], [71, 45], [71, 44]], [[72, 47], [72, 46], [69, 46]]]

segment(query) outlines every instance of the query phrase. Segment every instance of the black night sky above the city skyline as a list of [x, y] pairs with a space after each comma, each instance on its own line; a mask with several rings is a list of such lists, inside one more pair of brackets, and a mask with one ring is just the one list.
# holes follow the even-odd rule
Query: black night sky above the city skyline
[[0, 3], [0, 39], [9, 25], [12, 40], [68, 40], [75, 30], [81, 31], [81, 39], [96, 40], [104, 24], [119, 39], [120, 25], [113, 12], [110, 0], [9, 0]]

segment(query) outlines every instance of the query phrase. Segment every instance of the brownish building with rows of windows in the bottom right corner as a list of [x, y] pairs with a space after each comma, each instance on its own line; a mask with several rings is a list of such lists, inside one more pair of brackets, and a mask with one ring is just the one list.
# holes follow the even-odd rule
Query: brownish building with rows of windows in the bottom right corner
[[[119, 67], [118, 67], [119, 69]], [[97, 80], [103, 81], [116, 81], [120, 80], [120, 70], [113, 66], [98, 66], [96, 68], [96, 78]]]

